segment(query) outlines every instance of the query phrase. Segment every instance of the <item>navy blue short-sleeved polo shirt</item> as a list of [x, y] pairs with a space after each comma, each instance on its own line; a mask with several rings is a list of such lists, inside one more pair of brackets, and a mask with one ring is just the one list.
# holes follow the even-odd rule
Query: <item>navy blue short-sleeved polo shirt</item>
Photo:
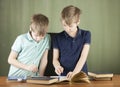
[[[76, 37], [70, 37], [65, 31], [57, 34], [53, 41], [53, 48], [59, 50], [59, 61], [64, 67], [62, 75], [73, 71], [85, 44], [91, 43], [90, 31], [79, 29]], [[87, 73], [87, 65], [84, 64], [82, 71]]]

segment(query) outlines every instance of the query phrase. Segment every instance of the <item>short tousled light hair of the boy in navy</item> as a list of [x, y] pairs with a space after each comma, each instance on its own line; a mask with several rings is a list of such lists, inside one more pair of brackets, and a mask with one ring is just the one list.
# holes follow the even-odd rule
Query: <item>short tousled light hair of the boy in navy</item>
[[81, 10], [73, 5], [65, 7], [61, 12], [62, 20], [65, 20], [67, 25], [71, 25], [73, 22], [78, 22], [80, 19]]

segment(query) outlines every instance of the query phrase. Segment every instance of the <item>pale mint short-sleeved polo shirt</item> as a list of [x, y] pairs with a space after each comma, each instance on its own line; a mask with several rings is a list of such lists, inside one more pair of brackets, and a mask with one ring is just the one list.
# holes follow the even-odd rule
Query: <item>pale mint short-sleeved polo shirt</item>
[[[18, 36], [11, 48], [12, 51], [18, 53], [17, 60], [23, 64], [35, 64], [39, 66], [40, 59], [45, 52], [50, 48], [50, 35], [46, 34], [40, 41], [36, 42], [32, 39], [30, 33]], [[34, 76], [36, 73], [17, 68], [13, 65], [10, 66], [8, 76]]]

